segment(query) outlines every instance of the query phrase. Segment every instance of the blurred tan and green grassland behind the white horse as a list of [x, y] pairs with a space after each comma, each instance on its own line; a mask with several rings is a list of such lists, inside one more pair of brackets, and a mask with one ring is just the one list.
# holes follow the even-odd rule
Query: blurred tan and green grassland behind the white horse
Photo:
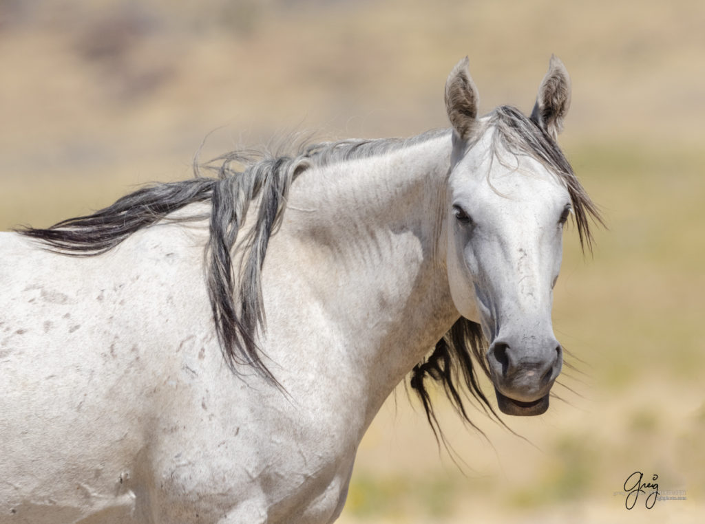
[[[446, 127], [466, 54], [483, 113], [529, 112], [555, 53], [573, 82], [560, 142], [608, 224], [587, 256], [566, 233], [554, 328], [577, 370], [544, 416], [504, 419], [520, 436], [478, 410], [483, 437], [437, 395], [455, 462], [398, 388], [341, 522], [700, 521], [704, 27], [700, 0], [0, 0], [0, 229], [190, 177], [207, 135], [203, 159]], [[637, 470], [685, 500], [627, 511]]]

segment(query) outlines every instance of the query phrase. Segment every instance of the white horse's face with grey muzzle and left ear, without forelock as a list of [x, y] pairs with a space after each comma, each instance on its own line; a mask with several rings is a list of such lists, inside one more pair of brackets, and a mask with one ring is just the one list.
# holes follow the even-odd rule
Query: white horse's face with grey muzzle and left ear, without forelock
[[[501, 123], [476, 118], [477, 91], [467, 68], [458, 66], [446, 86], [454, 130], [446, 216], [450, 292], [460, 314], [479, 321], [490, 342], [487, 364], [501, 411], [538, 415], [548, 408], [563, 363], [551, 306], [570, 195], [535, 158], [508, 151], [498, 138]], [[543, 114], [557, 129], [556, 116]]]

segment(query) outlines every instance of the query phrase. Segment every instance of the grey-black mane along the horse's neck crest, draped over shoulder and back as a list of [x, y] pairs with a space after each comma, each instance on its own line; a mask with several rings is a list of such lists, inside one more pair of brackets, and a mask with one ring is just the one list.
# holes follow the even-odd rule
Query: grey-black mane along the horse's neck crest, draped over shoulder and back
[[[267, 151], [231, 151], [200, 165], [195, 177], [147, 185], [91, 215], [61, 220], [46, 229], [23, 227], [21, 235], [37, 239], [47, 249], [68, 256], [97, 256], [110, 251], [138, 230], [163, 220], [209, 220], [207, 285], [221, 351], [228, 368], [250, 366], [278, 384], [262, 361], [257, 333], [264, 330], [262, 277], [267, 245], [281, 222], [286, 196], [305, 170], [332, 163], [369, 158], [448, 134], [431, 130], [408, 139], [347, 139], [301, 146], [290, 156]], [[252, 201], [259, 203], [255, 224], [243, 239], [244, 264], [239, 282], [231, 252]], [[197, 202], [210, 202], [209, 215], [172, 216]], [[235, 287], [239, 303], [235, 303]]]

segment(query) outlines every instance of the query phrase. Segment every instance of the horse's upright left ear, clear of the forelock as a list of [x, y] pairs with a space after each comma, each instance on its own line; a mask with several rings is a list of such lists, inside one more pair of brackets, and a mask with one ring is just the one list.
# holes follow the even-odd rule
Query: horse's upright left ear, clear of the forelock
[[479, 94], [470, 77], [470, 60], [463, 58], [455, 64], [446, 81], [446, 111], [455, 133], [463, 140], [469, 139], [477, 125]]

